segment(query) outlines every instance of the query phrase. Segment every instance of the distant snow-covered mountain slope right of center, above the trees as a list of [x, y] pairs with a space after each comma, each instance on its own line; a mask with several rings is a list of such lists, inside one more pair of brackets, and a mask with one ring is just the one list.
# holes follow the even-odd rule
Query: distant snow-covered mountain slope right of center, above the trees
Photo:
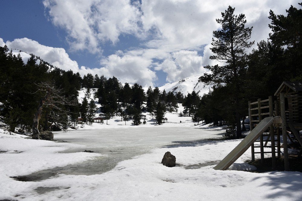
[[165, 90], [166, 92], [172, 91], [175, 93], [180, 91], [182, 94], [184, 94], [184, 96], [192, 91], [195, 91], [199, 96], [202, 96], [203, 94], [207, 94], [209, 92], [212, 85], [204, 85], [204, 83], [198, 82], [198, 78], [201, 75], [203, 74], [193, 75], [180, 81], [166, 84], [162, 87], [159, 87], [159, 90]]

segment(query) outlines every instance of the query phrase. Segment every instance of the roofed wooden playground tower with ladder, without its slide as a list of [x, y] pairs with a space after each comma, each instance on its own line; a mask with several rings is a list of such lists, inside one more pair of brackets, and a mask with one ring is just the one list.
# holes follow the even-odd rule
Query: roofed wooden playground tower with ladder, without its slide
[[[302, 82], [283, 82], [275, 93], [276, 101], [273, 102], [273, 97], [270, 96], [266, 100], [256, 102], [249, 101], [249, 119], [250, 130], [252, 131], [265, 117], [280, 117], [278, 123], [273, 123], [264, 132], [260, 139], [255, 142], [260, 142], [260, 146], [251, 145], [252, 161], [255, 160], [255, 154], [261, 154], [261, 163], [264, 162], [264, 154], [271, 153], [272, 168], [275, 169], [276, 155], [275, 146], [277, 142], [277, 157], [281, 157], [280, 134], [283, 137], [283, 154], [284, 154], [284, 170], [289, 170], [288, 163], [288, 139], [294, 142], [290, 134], [292, 134], [302, 146], [302, 138], [300, 130], [302, 130]], [[276, 139], [275, 139], [276, 136]], [[268, 141], [270, 139], [270, 145]], [[260, 151], [255, 152], [255, 148], [260, 148]], [[268, 150], [269, 149], [269, 150]], [[302, 149], [300, 154], [302, 154]]]

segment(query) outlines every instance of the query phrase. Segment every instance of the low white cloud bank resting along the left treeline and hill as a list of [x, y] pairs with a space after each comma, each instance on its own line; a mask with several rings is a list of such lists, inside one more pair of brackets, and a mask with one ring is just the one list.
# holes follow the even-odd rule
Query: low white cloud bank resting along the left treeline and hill
[[123, 55], [120, 52], [119, 55], [114, 54], [102, 59], [101, 65], [103, 67], [91, 69], [85, 66], [79, 67], [76, 61], [69, 58], [63, 48], [44, 46], [28, 38], [15, 39], [6, 43], [0, 38], [0, 46], [5, 44], [9, 49], [19, 49], [28, 54], [33, 53], [60, 69], [66, 71], [71, 69], [73, 72], [79, 72], [82, 76], [87, 73], [106, 77], [115, 76], [122, 83], [134, 84], [137, 82], [143, 86], [153, 86], [153, 81], [156, 80], [155, 72], [149, 69], [152, 59], [145, 59], [144, 57]]

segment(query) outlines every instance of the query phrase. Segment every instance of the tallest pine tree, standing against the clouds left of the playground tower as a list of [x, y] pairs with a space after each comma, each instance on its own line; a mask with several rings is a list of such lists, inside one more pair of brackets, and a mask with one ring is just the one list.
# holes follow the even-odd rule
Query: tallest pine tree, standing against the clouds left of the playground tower
[[235, 8], [231, 6], [221, 13], [222, 19], [216, 19], [221, 24], [221, 30], [213, 31], [212, 47], [214, 55], [210, 59], [223, 62], [225, 65], [206, 66], [212, 74], [205, 73], [199, 81], [206, 84], [218, 85], [226, 83], [232, 94], [231, 102], [234, 102], [235, 120], [237, 127], [237, 138], [241, 135], [240, 106], [239, 99], [242, 96], [242, 85], [246, 73], [246, 48], [250, 48], [254, 42], [249, 42], [252, 27], [245, 28], [246, 20], [244, 14], [234, 15]]

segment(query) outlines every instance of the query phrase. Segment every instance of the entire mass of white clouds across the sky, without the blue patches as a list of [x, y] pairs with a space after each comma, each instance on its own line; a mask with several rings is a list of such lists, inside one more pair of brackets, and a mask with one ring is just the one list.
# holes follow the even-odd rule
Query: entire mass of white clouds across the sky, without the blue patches
[[[269, 10], [286, 14], [296, 0], [43, 0], [47, 17], [67, 33], [66, 41], [76, 51], [100, 55], [105, 46], [115, 46], [121, 35], [130, 34], [140, 45], [120, 49], [108, 57], [102, 56], [100, 68], [79, 67], [65, 49], [43, 46], [23, 38], [6, 44], [9, 48], [34, 53], [59, 68], [81, 75], [116, 76], [122, 82], [138, 82], [144, 86], [156, 81], [155, 70], [167, 73], [166, 81], [207, 71], [205, 65], [217, 62], [209, 59], [213, 31], [220, 28], [217, 18], [229, 5], [235, 14], [246, 15], [246, 26], [253, 26], [255, 42], [266, 40], [270, 29]], [[0, 45], [3, 44], [0, 40]], [[137, 43], [135, 43], [137, 44]], [[255, 46], [254, 46], [255, 47]], [[130, 50], [129, 50], [130, 49]], [[249, 50], [250, 51], [250, 50]]]

